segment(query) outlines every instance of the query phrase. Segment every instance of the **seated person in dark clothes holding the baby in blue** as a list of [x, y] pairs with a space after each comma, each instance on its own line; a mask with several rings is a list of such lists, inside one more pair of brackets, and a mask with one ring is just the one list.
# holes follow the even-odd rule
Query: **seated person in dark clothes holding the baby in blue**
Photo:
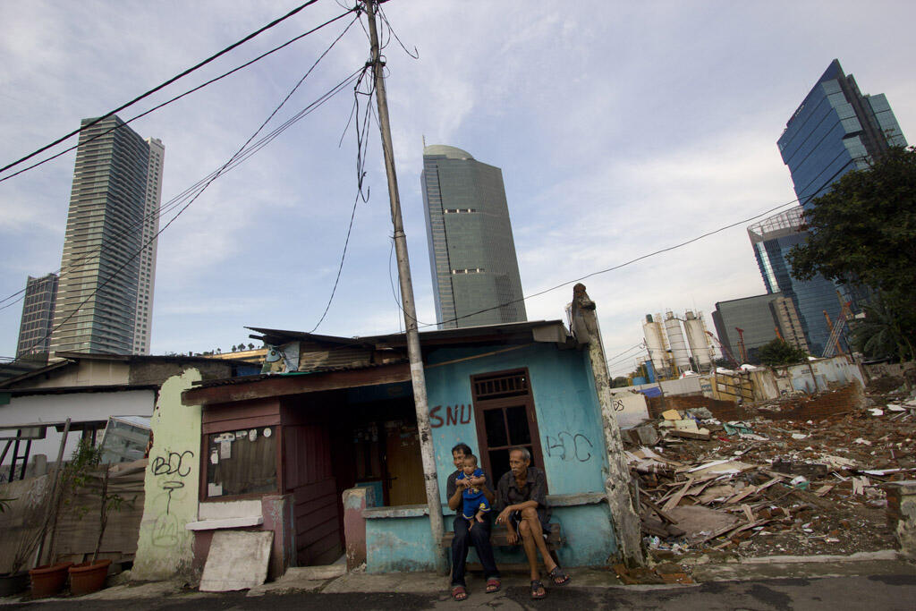
[[[448, 499], [449, 508], [458, 511], [454, 520], [455, 536], [452, 540], [452, 597], [455, 600], [464, 600], [467, 598], [467, 584], [464, 583], [464, 565], [467, 562], [467, 552], [473, 545], [477, 551], [477, 557], [480, 563], [484, 565], [484, 575], [486, 577], [486, 592], [492, 594], [499, 591], [499, 571], [496, 570], [496, 561], [493, 559], [493, 546], [490, 544], [490, 529], [492, 523], [490, 514], [483, 517], [482, 522], [478, 523], [473, 529], [469, 528], [470, 523], [464, 519], [462, 511], [464, 489], [471, 486], [471, 479], [463, 478], [458, 480], [459, 474], [463, 473], [464, 456], [473, 455], [471, 448], [464, 443], [459, 443], [452, 448], [452, 459], [455, 465], [455, 471], [449, 475], [446, 486], [445, 496]], [[476, 486], [481, 488], [487, 501], [492, 505], [493, 491], [484, 474], [483, 481], [473, 478]]]

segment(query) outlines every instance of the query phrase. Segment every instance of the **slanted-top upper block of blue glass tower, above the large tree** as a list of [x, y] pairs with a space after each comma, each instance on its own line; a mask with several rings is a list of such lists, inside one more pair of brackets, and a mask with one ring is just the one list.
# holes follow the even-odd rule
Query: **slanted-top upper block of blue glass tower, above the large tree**
[[884, 93], [859, 93], [853, 75], [833, 60], [791, 115], [777, 144], [799, 203], [808, 207], [830, 191], [834, 180], [867, 168], [870, 158], [888, 147], [905, 147], [907, 141]]

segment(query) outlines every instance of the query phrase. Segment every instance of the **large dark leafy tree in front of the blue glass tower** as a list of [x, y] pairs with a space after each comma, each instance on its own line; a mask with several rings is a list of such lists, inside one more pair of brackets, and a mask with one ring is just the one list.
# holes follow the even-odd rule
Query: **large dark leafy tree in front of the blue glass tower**
[[872, 289], [872, 314], [898, 335], [892, 356], [916, 357], [916, 147], [891, 147], [812, 204], [808, 239], [788, 255], [792, 276]]

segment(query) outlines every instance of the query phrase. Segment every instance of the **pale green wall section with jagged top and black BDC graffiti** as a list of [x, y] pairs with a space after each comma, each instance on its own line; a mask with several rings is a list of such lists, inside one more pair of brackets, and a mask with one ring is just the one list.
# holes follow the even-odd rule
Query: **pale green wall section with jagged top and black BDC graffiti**
[[[201, 408], [181, 405], [181, 393], [199, 381], [197, 369], [171, 376], [153, 412], [153, 449], [144, 484], [146, 501], [131, 579], [169, 579], [190, 573], [200, 482]], [[158, 442], [162, 440], [162, 442]]]

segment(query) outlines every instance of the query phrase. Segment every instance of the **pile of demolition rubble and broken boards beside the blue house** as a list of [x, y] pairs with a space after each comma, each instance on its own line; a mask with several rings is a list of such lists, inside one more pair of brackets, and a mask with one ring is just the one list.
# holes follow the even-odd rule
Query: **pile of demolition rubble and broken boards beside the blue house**
[[[895, 547], [880, 486], [916, 478], [916, 391], [882, 390], [808, 420], [774, 417], [780, 401], [769, 401], [745, 406], [745, 420], [671, 409], [624, 431], [649, 550], [670, 558]], [[790, 401], [797, 406], [781, 403]]]

